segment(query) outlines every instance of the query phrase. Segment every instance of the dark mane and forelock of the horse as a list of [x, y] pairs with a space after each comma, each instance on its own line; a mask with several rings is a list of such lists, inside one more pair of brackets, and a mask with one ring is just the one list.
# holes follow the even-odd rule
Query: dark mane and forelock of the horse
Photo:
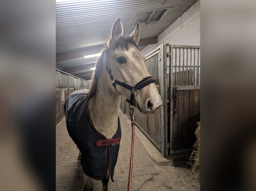
[[[104, 47], [101, 51], [101, 56], [97, 59], [97, 62], [96, 62], [96, 65], [95, 65], [95, 71], [94, 71], [94, 74], [93, 74], [93, 77], [92, 77], [92, 82], [91, 82], [91, 86], [90, 86], [90, 90], [89, 90], [89, 93], [87, 94], [86, 98], [87, 100], [89, 101], [93, 96], [96, 95], [97, 93], [97, 85], [98, 85], [98, 80], [99, 80], [99, 77], [100, 77], [100, 74], [101, 74], [101, 70], [102, 70], [102, 67], [103, 67], [103, 63], [105, 63], [105, 59], [106, 59], [106, 52], [107, 50], [109, 49], [109, 46], [108, 46], [108, 42], [109, 40], [111, 39], [111, 37], [108, 37], [105, 44], [104, 44]], [[122, 49], [122, 50], [128, 50], [128, 46], [129, 44], [135, 46], [138, 50], [139, 50], [139, 47], [138, 45], [135, 43], [135, 41], [133, 40], [133, 38], [127, 36], [127, 35], [122, 35], [115, 43], [114, 45], [114, 50], [115, 49]]]

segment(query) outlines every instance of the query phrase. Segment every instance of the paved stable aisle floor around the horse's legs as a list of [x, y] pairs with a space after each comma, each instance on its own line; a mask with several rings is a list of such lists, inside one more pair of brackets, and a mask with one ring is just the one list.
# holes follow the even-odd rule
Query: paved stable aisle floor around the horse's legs
[[[114, 180], [109, 182], [110, 191], [127, 190], [130, 164], [131, 127], [129, 118], [119, 113], [122, 139]], [[56, 124], [56, 190], [83, 190], [82, 166], [77, 160], [79, 150], [69, 137], [65, 117]], [[133, 191], [150, 190], [200, 190], [200, 183], [189, 168], [171, 166], [172, 161], [162, 157], [160, 152], [136, 127], [133, 159]], [[94, 190], [101, 191], [101, 181], [94, 180]]]

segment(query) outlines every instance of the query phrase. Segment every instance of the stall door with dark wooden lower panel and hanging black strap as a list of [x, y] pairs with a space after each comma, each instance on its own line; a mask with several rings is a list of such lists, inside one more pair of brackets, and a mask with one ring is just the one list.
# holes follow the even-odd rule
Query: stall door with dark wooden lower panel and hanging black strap
[[200, 121], [200, 46], [170, 45], [168, 70], [169, 154], [191, 150]]

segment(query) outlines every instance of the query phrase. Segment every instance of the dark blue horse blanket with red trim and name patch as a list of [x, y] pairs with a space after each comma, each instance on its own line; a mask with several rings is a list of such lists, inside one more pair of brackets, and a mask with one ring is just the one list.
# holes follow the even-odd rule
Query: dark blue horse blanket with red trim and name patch
[[109, 169], [113, 180], [114, 169], [121, 139], [121, 126], [118, 116], [118, 129], [112, 139], [107, 139], [93, 126], [85, 98], [89, 90], [74, 91], [65, 101], [66, 124], [70, 137], [82, 153], [81, 164], [84, 173], [96, 180], [106, 177]]

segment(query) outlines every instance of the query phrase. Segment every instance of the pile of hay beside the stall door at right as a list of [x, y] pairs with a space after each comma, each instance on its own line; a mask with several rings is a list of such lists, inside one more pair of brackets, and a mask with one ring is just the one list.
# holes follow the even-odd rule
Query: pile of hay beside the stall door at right
[[192, 166], [193, 172], [198, 174], [198, 178], [200, 179], [200, 122], [198, 122], [197, 125], [198, 127], [195, 131], [197, 140], [194, 143], [194, 149], [190, 155], [190, 165]]

